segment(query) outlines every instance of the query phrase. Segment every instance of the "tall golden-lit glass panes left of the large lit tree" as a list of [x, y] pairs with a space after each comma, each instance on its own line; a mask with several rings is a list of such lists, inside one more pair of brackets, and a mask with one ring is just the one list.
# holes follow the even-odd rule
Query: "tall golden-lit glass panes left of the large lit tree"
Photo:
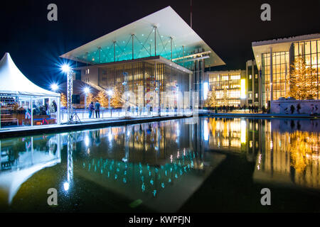
[[262, 54], [262, 105], [267, 106], [271, 99], [271, 83], [273, 99], [289, 96], [289, 51], [272, 52], [272, 81], [270, 53]]

